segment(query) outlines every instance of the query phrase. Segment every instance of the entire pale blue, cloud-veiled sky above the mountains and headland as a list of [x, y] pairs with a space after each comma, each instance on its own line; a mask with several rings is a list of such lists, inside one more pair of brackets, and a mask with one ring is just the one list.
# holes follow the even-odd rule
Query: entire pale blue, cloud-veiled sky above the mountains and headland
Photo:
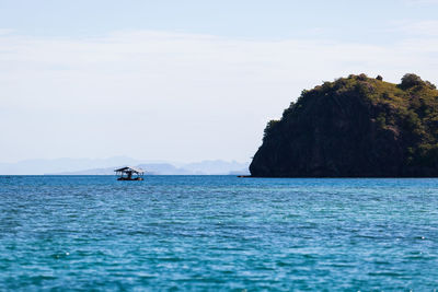
[[249, 161], [301, 90], [438, 83], [438, 1], [0, 0], [0, 162]]

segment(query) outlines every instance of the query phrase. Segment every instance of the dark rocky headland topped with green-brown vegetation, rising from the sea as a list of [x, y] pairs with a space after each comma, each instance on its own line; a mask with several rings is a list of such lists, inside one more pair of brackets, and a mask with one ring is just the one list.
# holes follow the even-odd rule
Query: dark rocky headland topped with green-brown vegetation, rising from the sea
[[349, 75], [303, 91], [265, 129], [250, 165], [262, 177], [438, 176], [438, 91]]

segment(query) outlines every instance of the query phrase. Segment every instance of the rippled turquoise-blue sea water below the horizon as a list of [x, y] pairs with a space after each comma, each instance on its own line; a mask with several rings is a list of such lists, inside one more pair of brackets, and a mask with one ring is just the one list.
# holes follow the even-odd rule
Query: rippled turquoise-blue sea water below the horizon
[[438, 288], [438, 179], [0, 176], [0, 290]]

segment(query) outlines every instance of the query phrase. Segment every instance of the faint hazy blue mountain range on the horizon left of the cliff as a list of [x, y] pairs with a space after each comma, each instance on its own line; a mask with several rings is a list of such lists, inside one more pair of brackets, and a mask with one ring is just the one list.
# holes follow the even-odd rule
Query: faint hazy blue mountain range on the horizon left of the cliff
[[27, 160], [0, 163], [0, 175], [113, 175], [114, 168], [139, 166], [147, 175], [247, 175], [249, 163], [221, 160], [196, 163], [139, 161], [131, 157]]

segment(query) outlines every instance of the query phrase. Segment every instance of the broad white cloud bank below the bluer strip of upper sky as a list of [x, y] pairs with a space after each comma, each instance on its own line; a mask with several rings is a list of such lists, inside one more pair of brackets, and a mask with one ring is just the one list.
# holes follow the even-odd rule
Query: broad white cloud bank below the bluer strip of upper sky
[[430, 37], [377, 46], [150, 31], [93, 39], [0, 35], [0, 161], [244, 161], [267, 118], [302, 89], [360, 72], [395, 82], [417, 72], [436, 82], [437, 52]]

